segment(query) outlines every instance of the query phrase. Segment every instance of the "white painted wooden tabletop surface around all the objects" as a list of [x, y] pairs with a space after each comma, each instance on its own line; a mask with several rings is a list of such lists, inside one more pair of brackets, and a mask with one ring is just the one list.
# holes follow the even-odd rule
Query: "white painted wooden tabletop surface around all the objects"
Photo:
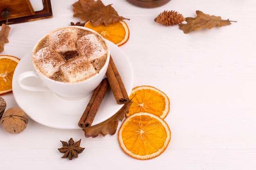
[[[0, 55], [22, 58], [48, 31], [80, 21], [72, 17], [74, 2], [52, 0], [53, 18], [10, 25], [9, 43]], [[168, 148], [155, 159], [140, 161], [121, 150], [117, 133], [85, 138], [82, 130], [49, 128], [29, 119], [20, 134], [0, 128], [1, 169], [255, 170], [256, 1], [171, 0], [154, 9], [126, 0], [102, 2], [130, 18], [130, 39], [120, 48], [132, 64], [134, 87], [155, 86], [170, 98]], [[200, 10], [237, 22], [184, 34], [178, 26], [154, 22], [164, 10], [184, 17]], [[2, 97], [7, 108], [17, 106], [12, 94]], [[71, 137], [82, 139], [85, 148], [72, 161], [57, 150], [60, 140]]]

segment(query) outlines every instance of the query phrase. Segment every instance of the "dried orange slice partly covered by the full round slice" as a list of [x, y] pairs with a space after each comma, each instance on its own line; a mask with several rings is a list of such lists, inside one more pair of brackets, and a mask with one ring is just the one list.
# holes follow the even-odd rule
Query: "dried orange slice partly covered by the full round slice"
[[170, 100], [167, 95], [152, 86], [138, 86], [130, 94], [132, 104], [126, 117], [139, 112], [147, 112], [164, 119], [170, 111]]

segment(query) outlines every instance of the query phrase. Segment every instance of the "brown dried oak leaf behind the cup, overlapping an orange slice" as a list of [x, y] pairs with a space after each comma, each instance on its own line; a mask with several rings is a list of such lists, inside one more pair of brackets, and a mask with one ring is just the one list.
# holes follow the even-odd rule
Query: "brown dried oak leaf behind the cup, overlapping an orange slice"
[[118, 15], [111, 4], [105, 6], [101, 0], [79, 0], [72, 4], [74, 15], [83, 21], [90, 21], [94, 26], [105, 24], [109, 26], [119, 20], [129, 20]]

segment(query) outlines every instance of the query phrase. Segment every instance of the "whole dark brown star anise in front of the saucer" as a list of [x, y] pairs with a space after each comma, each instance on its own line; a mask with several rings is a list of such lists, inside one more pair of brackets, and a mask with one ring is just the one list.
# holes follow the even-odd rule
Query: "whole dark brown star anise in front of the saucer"
[[79, 141], [74, 142], [72, 138], [67, 143], [66, 141], [61, 141], [63, 147], [58, 148], [61, 153], [65, 153], [62, 158], [68, 157], [69, 160], [74, 158], [78, 158], [78, 154], [82, 153], [85, 148], [80, 147], [81, 139]]

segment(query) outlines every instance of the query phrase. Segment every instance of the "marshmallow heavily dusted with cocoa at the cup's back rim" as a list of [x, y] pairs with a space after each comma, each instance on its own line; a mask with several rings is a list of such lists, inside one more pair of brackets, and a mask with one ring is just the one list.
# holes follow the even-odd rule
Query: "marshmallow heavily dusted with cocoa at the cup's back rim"
[[75, 51], [77, 39], [77, 31], [61, 29], [49, 35], [49, 46], [58, 52]]

